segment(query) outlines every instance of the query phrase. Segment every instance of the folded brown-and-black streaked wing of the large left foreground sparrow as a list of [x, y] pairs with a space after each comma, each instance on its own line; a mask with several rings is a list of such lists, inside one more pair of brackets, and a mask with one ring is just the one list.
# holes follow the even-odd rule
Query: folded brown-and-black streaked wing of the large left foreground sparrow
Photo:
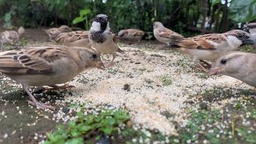
[[63, 47], [37, 46], [0, 54], [0, 72], [4, 74], [51, 74], [53, 64], [68, 58]]

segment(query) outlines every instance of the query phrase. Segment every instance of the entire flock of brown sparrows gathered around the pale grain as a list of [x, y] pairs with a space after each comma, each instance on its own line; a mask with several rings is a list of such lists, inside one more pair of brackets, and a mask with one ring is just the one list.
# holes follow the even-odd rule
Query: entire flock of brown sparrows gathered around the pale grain
[[[204, 34], [185, 38], [167, 29], [161, 22], [154, 22], [154, 37], [170, 49], [190, 55], [198, 67], [208, 75], [223, 74], [256, 87], [256, 54], [237, 51], [239, 46], [256, 45], [256, 23], [247, 25], [249, 33], [230, 30], [222, 34]], [[90, 30], [72, 31], [69, 26], [46, 30], [51, 42], [60, 45], [30, 46], [19, 50], [3, 51], [3, 45], [15, 44], [25, 33], [21, 26], [16, 31], [1, 34], [0, 72], [15, 82], [21, 83], [30, 96], [29, 104], [40, 109], [54, 110], [54, 106], [38, 102], [30, 93], [30, 86], [51, 86], [66, 89], [72, 86], [56, 86], [69, 82], [85, 70], [105, 70], [114, 65], [117, 54], [124, 54], [117, 43], [124, 39], [129, 43], [140, 42], [142, 30], [120, 30], [118, 36], [110, 29], [106, 14], [94, 17]], [[101, 54], [111, 54], [112, 59], [104, 66]], [[212, 64], [206, 61], [214, 61]]]

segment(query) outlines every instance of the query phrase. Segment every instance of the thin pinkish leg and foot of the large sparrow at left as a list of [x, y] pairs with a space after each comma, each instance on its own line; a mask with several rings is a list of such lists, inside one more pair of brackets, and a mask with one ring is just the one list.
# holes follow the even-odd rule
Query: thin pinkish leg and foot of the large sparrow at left
[[50, 109], [50, 110], [54, 110], [55, 109], [54, 106], [50, 106], [50, 105], [47, 105], [45, 103], [38, 102], [38, 100], [36, 100], [34, 98], [34, 95], [30, 93], [30, 90], [28, 90], [27, 86], [23, 86], [22, 85], [22, 88], [23, 88], [23, 90], [26, 91], [26, 94], [29, 94], [29, 96], [30, 96], [30, 98], [32, 100], [32, 101], [28, 101], [30, 105], [37, 106], [39, 109]]

